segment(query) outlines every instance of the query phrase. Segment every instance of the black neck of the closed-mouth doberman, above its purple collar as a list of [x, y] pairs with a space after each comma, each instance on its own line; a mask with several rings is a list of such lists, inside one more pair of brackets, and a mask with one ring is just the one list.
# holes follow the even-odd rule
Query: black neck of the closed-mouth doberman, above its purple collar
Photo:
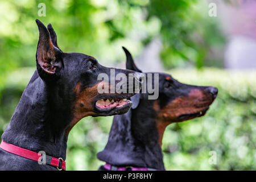
[[115, 166], [164, 170], [159, 144], [162, 136], [154, 118], [155, 112], [146, 102], [126, 114], [116, 115], [108, 143], [104, 151], [98, 153], [98, 159]]

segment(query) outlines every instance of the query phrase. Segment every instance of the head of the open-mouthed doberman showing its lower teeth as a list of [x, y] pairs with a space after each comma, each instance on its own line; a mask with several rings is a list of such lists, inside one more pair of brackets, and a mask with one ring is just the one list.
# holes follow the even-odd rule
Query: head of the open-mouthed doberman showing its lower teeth
[[[104, 67], [94, 57], [83, 53], [64, 53], [57, 45], [57, 36], [51, 24], [47, 29], [39, 20], [36, 23], [39, 28], [36, 51], [38, 74], [56, 107], [72, 106], [74, 118], [71, 127], [88, 115], [124, 114], [130, 109], [131, 101], [126, 98], [134, 93], [117, 92], [113, 86], [118, 83], [115, 78], [120, 74], [127, 77], [134, 74], [136, 79], [134, 71]], [[98, 79], [99, 75], [103, 76]], [[114, 84], [110, 84], [111, 81]], [[123, 84], [129, 85], [129, 81]]]

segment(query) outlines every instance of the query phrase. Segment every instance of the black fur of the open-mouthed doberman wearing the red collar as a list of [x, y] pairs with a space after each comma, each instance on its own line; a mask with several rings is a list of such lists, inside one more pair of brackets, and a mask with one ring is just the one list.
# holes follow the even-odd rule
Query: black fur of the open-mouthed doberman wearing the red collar
[[[24, 89], [2, 139], [6, 143], [35, 152], [45, 151], [46, 155], [65, 160], [68, 139], [65, 133], [75, 117], [76, 85], [78, 82], [81, 83], [79, 92], [92, 88], [100, 82], [97, 80], [98, 74], [110, 75], [110, 68], [98, 64], [97, 60], [91, 56], [62, 52], [57, 46], [56, 34], [51, 24], [48, 25], [48, 31], [42, 22], [36, 20], [36, 23], [39, 28], [36, 51], [37, 69]], [[50, 36], [51, 39], [49, 39]], [[44, 59], [40, 55], [44, 55]], [[44, 65], [47, 66], [44, 67]], [[115, 74], [118, 73], [128, 75], [135, 72], [115, 69]], [[112, 94], [121, 98], [133, 95]], [[108, 97], [108, 94], [97, 97]], [[96, 109], [94, 103], [88, 104], [93, 105], [94, 117], [123, 114], [131, 106], [104, 111]], [[22, 158], [0, 148], [0, 170], [57, 169], [48, 165], [39, 165], [34, 160]]]

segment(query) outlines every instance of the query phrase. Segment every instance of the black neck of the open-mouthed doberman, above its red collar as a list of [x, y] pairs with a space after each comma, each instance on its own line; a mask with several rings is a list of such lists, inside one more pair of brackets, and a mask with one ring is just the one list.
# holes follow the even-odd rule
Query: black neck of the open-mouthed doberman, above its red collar
[[46, 155], [65, 160], [65, 129], [71, 114], [67, 106], [56, 105], [53, 93], [49, 93], [48, 89], [35, 71], [2, 139], [15, 146], [35, 152], [45, 151]]

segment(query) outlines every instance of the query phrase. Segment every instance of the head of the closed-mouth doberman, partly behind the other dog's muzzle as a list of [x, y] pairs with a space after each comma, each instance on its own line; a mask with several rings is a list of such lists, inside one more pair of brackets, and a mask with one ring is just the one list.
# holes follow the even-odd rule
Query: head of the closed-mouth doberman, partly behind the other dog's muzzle
[[[126, 53], [126, 69], [142, 73], [129, 51], [123, 49]], [[154, 81], [147, 81], [148, 73], [145, 74], [144, 84], [153, 84]], [[156, 100], [148, 100], [149, 94], [141, 93], [131, 97], [131, 101], [134, 110], [145, 115], [154, 113], [151, 116], [155, 118], [160, 136], [171, 123], [203, 116], [217, 97], [218, 89], [212, 86], [183, 84], [166, 73], [158, 73], [158, 77], [159, 97]]]

